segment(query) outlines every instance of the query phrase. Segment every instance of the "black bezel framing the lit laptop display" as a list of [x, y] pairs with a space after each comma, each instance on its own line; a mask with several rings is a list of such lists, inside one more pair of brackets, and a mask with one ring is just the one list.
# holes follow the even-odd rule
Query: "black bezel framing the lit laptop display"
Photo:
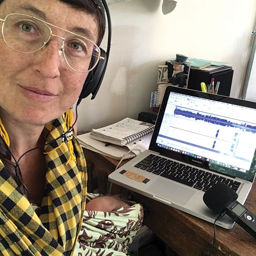
[[[162, 101], [162, 104], [160, 106], [159, 113], [157, 115], [157, 120], [156, 120], [156, 124], [155, 124], [155, 128], [154, 128], [154, 132], [153, 132], [153, 135], [152, 135], [151, 143], [149, 145], [149, 150], [156, 151], [156, 152], [160, 153], [163, 156], [170, 157], [172, 159], [175, 159], [175, 160], [178, 160], [178, 161], [181, 161], [181, 162], [184, 162], [184, 163], [192, 164], [193, 166], [198, 166], [200, 168], [204, 168], [204, 169], [210, 170], [212, 172], [227, 175], [226, 173], [218, 172], [216, 170], [213, 170], [213, 169], [209, 168], [209, 162], [208, 161], [200, 160], [200, 161], [198, 161], [198, 163], [196, 163], [194, 157], [184, 155], [184, 154], [181, 154], [181, 153], [171, 151], [169, 149], [157, 146], [156, 141], [157, 141], [157, 136], [159, 134], [159, 130], [160, 130], [160, 126], [161, 126], [161, 120], [163, 119], [163, 115], [165, 113], [166, 105], [167, 105], [167, 102], [168, 102], [168, 99], [169, 99], [169, 94], [171, 92], [181, 93], [181, 94], [194, 96], [194, 97], [199, 97], [199, 98], [202, 98], [202, 99], [210, 99], [210, 100], [214, 100], [214, 101], [218, 101], [218, 102], [229, 103], [229, 104], [243, 106], [243, 107], [247, 107], [247, 108], [253, 108], [253, 109], [256, 109], [256, 102], [250, 102], [250, 101], [246, 101], [246, 100], [242, 100], [242, 99], [236, 99], [236, 98], [231, 98], [231, 97], [228, 97], [228, 96], [221, 96], [221, 95], [212, 94], [212, 93], [203, 93], [201, 91], [190, 90], [190, 89], [185, 89], [185, 88], [181, 88], [181, 87], [175, 87], [175, 86], [166, 87], [166, 91], [165, 91], [165, 94], [163, 96], [163, 101]], [[255, 165], [254, 162], [251, 164], [251, 168], [252, 168], [253, 165]], [[254, 172], [253, 175], [252, 174], [243, 175], [243, 174], [241, 174], [241, 172], [234, 171], [234, 174], [235, 175], [227, 175], [227, 176], [239, 177], [241, 179], [248, 180], [250, 182], [253, 182], [253, 180], [255, 178], [255, 172]]]

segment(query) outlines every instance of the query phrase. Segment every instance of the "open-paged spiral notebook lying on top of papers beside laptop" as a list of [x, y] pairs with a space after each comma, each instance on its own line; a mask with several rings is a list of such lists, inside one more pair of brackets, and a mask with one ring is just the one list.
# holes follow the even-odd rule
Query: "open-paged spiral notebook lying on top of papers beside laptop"
[[94, 140], [125, 146], [144, 137], [147, 134], [150, 134], [153, 132], [153, 130], [153, 124], [141, 122], [127, 117], [112, 125], [99, 129], [93, 129], [90, 132], [90, 137]]

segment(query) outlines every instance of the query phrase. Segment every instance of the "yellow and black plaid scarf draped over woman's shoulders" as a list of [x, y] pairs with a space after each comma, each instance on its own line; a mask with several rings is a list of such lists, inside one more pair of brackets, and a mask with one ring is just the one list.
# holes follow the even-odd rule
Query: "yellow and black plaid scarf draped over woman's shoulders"
[[[44, 128], [46, 142], [67, 129], [64, 116]], [[67, 139], [45, 147], [46, 190], [41, 215], [35, 213], [0, 160], [0, 252], [3, 255], [70, 255], [81, 227], [86, 197], [86, 163], [76, 137], [76, 161]], [[61, 145], [61, 146], [59, 146]], [[53, 150], [56, 148], [56, 150]], [[50, 153], [49, 153], [50, 152]]]

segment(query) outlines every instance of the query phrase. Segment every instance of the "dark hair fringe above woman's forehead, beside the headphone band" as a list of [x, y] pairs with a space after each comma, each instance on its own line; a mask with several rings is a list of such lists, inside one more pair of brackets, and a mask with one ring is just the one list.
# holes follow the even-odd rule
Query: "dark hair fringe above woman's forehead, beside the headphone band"
[[[4, 0], [0, 0], [0, 4], [3, 3]], [[91, 14], [96, 22], [98, 23], [99, 35], [96, 44], [99, 46], [102, 42], [103, 36], [105, 34], [106, 20], [105, 17], [99, 11], [96, 3], [93, 0], [58, 0], [63, 3], [67, 3], [75, 9], [81, 9], [85, 12]]]

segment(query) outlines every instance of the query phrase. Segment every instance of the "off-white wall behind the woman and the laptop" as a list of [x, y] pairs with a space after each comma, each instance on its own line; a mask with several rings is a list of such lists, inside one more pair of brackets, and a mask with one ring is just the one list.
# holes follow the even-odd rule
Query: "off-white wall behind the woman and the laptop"
[[[162, 0], [132, 0], [110, 6], [112, 42], [109, 64], [96, 99], [79, 105], [79, 130], [100, 128], [150, 111], [157, 90], [157, 66], [176, 53], [229, 62], [234, 69], [232, 97], [244, 79], [255, 0], [177, 0], [163, 15]], [[105, 48], [106, 40], [102, 47]]]

